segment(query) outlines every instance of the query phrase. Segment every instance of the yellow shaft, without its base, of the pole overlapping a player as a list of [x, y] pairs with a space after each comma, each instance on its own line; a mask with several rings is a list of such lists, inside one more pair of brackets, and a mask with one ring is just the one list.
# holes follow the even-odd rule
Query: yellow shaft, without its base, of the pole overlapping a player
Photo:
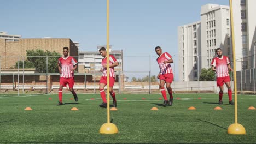
[[110, 123], [109, 110], [109, 0], [107, 0], [107, 121]]

